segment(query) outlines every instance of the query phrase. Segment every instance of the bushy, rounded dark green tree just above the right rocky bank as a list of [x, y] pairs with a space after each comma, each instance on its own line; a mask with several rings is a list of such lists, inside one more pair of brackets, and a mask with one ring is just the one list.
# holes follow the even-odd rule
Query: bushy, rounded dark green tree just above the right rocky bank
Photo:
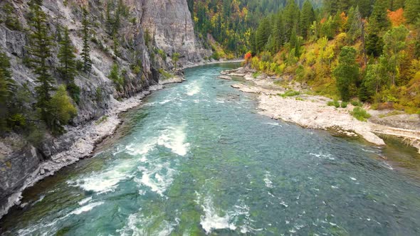
[[356, 63], [355, 48], [344, 46], [338, 58], [338, 65], [333, 74], [337, 81], [337, 89], [343, 101], [350, 100], [350, 85], [359, 77], [359, 65]]

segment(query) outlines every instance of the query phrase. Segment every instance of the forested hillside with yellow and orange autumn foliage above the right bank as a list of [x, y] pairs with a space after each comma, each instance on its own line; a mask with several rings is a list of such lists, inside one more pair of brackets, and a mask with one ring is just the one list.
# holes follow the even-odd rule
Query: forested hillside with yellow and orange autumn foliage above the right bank
[[419, 0], [288, 1], [251, 32], [247, 59], [317, 94], [419, 112], [419, 14]]

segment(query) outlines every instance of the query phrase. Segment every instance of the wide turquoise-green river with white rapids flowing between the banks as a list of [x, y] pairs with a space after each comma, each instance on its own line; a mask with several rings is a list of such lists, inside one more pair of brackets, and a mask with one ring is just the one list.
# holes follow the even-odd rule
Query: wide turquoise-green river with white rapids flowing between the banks
[[93, 158], [29, 188], [1, 234], [420, 235], [419, 178], [379, 158], [412, 150], [263, 117], [216, 79], [234, 66], [147, 97]]

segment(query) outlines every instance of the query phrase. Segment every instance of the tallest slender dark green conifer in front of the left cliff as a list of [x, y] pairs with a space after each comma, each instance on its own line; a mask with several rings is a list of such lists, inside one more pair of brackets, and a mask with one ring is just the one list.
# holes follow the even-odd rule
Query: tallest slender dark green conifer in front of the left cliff
[[53, 45], [51, 36], [48, 36], [48, 24], [46, 14], [42, 11], [38, 2], [31, 4], [31, 26], [29, 34], [29, 54], [32, 56], [31, 65], [34, 73], [37, 75], [35, 87], [37, 94], [37, 107], [41, 112], [41, 119], [46, 122], [49, 128], [53, 128], [50, 114], [50, 92], [54, 90], [53, 77], [49, 72], [48, 58], [51, 58], [51, 46]]

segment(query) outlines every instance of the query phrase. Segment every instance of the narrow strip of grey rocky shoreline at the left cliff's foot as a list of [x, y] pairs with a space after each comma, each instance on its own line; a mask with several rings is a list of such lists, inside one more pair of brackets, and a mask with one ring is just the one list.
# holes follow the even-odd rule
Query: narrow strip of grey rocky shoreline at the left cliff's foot
[[[142, 99], [153, 91], [162, 90], [164, 85], [170, 83], [181, 83], [186, 81], [182, 76], [175, 76], [168, 80], [161, 80], [159, 84], [152, 85], [148, 90], [140, 92], [134, 97], [130, 97], [122, 102], [111, 98], [110, 108], [107, 109], [105, 115], [97, 120], [91, 121], [80, 127], [68, 127], [68, 132], [60, 137], [64, 141], [75, 140], [66, 150], [51, 156], [51, 159], [44, 161], [41, 165], [26, 178], [23, 186], [16, 192], [11, 194], [6, 204], [1, 205], [0, 218], [6, 215], [11, 207], [21, 204], [23, 191], [41, 181], [43, 178], [53, 176], [54, 173], [61, 170], [65, 166], [85, 159], [93, 155], [96, 146], [100, 144], [107, 136], [115, 133], [116, 129], [122, 123], [119, 114], [127, 112], [142, 104]], [[67, 140], [66, 140], [67, 139]]]

